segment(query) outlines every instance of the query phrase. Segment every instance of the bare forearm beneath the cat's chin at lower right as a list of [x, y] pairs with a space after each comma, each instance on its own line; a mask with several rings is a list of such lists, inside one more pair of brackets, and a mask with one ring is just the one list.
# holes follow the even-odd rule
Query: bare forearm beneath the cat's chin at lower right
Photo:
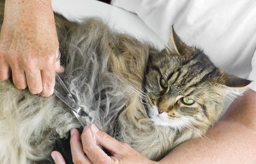
[[205, 137], [184, 142], [160, 163], [256, 163], [256, 93], [248, 90]]

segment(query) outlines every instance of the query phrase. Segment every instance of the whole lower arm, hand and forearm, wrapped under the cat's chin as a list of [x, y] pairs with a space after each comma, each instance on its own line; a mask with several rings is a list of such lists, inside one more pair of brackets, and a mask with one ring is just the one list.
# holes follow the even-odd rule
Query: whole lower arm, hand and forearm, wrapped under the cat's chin
[[[246, 91], [230, 106], [228, 112], [205, 137], [184, 142], [159, 162], [149, 161], [127, 144], [118, 142], [95, 126], [85, 127], [79, 137], [72, 130], [71, 149], [74, 163], [256, 163], [256, 92]], [[98, 144], [110, 150], [107, 156]], [[84, 156], [83, 154], [87, 154]], [[53, 152], [56, 164], [63, 164], [58, 152]]]

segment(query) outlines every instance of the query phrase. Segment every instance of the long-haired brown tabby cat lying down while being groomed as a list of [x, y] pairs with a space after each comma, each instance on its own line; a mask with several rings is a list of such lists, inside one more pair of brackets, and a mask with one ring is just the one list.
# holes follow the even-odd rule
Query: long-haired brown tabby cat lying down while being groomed
[[[0, 7], [2, 23], [4, 1]], [[152, 160], [204, 135], [229, 89], [250, 83], [216, 67], [173, 28], [169, 44], [158, 50], [99, 18], [78, 23], [55, 14], [55, 22], [65, 67], [61, 77], [88, 114], [85, 125], [94, 122]], [[53, 163], [55, 142], [79, 127], [55, 95], [31, 95], [12, 80], [0, 82], [1, 164]]]

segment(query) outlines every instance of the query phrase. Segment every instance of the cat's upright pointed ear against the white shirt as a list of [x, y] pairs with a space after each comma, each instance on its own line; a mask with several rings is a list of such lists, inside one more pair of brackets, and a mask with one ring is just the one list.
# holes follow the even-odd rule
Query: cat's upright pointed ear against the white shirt
[[173, 26], [171, 26], [171, 36], [169, 39], [169, 44], [165, 48], [169, 52], [175, 52], [175, 54], [190, 54], [191, 52], [195, 52], [195, 48], [187, 46], [182, 42], [182, 39], [177, 35]]

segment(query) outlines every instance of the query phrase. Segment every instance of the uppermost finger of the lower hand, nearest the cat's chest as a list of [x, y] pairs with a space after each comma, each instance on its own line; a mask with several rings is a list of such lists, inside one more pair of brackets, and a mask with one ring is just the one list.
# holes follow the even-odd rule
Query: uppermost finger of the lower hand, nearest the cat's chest
[[111, 154], [122, 154], [122, 151], [126, 150], [124, 146], [128, 146], [127, 144], [119, 142], [104, 131], [97, 131], [98, 128], [96, 125], [91, 125], [91, 129], [96, 137], [98, 144], [106, 148], [106, 150], [109, 150]]

